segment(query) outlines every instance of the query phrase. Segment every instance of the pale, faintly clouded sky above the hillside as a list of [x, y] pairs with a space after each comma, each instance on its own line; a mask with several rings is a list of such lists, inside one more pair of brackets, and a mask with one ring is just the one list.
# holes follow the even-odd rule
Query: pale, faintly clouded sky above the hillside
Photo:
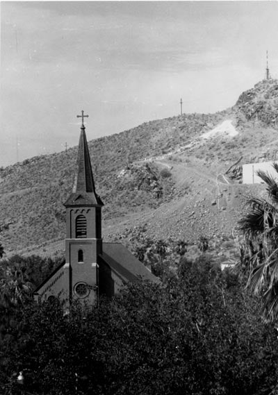
[[1, 1], [0, 166], [278, 78], [278, 1]]

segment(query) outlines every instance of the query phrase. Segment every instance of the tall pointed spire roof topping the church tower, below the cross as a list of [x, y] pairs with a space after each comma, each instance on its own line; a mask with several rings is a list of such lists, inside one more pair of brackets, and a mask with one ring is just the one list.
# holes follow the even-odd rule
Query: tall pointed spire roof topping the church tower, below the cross
[[85, 126], [82, 124], [77, 156], [77, 171], [72, 188], [72, 194], [65, 202], [69, 205], [103, 205], [99, 195], [95, 192], [95, 182], [92, 175], [92, 165]]

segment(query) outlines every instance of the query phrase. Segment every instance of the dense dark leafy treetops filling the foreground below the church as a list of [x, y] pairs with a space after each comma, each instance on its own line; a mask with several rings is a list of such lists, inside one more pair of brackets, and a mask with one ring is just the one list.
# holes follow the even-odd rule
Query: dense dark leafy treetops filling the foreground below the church
[[28, 303], [1, 343], [1, 393], [275, 394], [277, 338], [258, 306], [205, 259], [69, 314]]

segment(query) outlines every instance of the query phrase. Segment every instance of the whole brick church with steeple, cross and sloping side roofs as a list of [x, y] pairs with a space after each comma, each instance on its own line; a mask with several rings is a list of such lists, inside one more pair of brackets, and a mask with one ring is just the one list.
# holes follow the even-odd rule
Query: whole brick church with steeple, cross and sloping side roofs
[[[79, 117], [79, 116], [78, 116]], [[120, 243], [103, 242], [101, 208], [95, 191], [90, 154], [82, 115], [77, 171], [66, 208], [65, 263], [35, 289], [36, 301], [54, 297], [83, 299], [114, 296], [128, 282], [140, 279], [160, 283], [147, 267]]]

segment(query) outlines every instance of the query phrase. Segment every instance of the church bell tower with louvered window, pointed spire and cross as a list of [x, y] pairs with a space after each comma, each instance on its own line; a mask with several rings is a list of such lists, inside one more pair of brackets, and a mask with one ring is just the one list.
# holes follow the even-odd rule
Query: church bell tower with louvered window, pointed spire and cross
[[95, 192], [88, 143], [82, 117], [76, 176], [66, 208], [65, 262], [70, 269], [70, 298], [93, 302], [98, 292], [98, 256], [102, 253], [101, 207]]

